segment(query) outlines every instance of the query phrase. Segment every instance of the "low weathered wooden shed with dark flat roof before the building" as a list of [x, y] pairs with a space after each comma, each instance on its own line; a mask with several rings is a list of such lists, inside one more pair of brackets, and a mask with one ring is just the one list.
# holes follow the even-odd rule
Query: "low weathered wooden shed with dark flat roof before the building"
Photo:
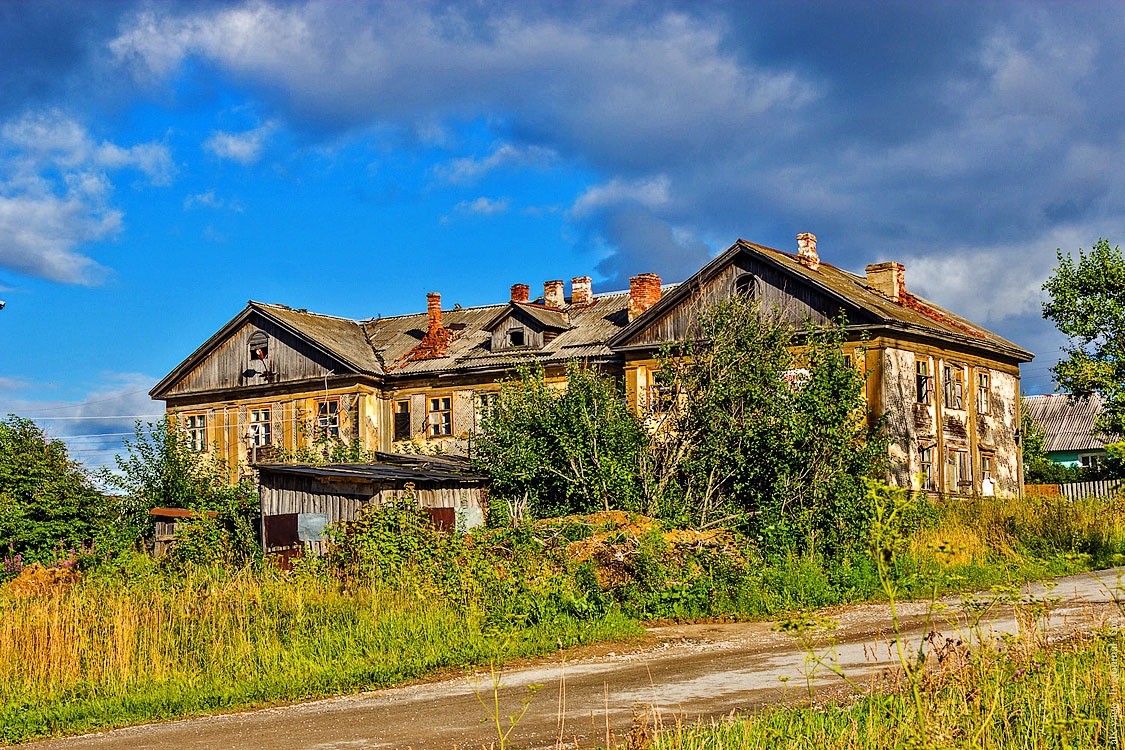
[[[369, 463], [259, 463], [262, 549], [321, 554], [330, 524], [352, 521], [371, 503], [413, 491], [441, 530], [484, 524], [483, 477], [454, 457], [376, 453]], [[410, 485], [410, 487], [407, 487]]]

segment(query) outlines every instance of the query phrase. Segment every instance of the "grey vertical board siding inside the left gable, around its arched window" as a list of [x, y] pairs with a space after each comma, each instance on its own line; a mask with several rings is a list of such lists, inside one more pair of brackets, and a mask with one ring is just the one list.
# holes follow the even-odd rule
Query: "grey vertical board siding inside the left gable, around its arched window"
[[[269, 337], [269, 356], [266, 364], [273, 373], [271, 383], [323, 378], [325, 373], [348, 372], [344, 365], [309, 346], [274, 323], [255, 316], [220, 343], [202, 362], [180, 378], [168, 390], [168, 396], [266, 385], [264, 377], [250, 361], [250, 337], [258, 331]], [[259, 369], [261, 362], [254, 362]]]

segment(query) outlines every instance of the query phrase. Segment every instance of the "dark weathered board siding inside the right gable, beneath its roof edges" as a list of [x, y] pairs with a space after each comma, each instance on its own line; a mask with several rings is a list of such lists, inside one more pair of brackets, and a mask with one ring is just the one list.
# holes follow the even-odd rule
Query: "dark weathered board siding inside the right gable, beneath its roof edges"
[[735, 282], [742, 274], [750, 273], [757, 279], [757, 298], [763, 310], [777, 310], [781, 318], [794, 325], [806, 319], [824, 324], [836, 318], [842, 308], [835, 299], [799, 280], [782, 273], [773, 265], [749, 255], [739, 255], [719, 273], [708, 280], [699, 290], [682, 299], [672, 309], [638, 331], [627, 345], [660, 344], [682, 341], [692, 334], [700, 310], [710, 305], [729, 299]]

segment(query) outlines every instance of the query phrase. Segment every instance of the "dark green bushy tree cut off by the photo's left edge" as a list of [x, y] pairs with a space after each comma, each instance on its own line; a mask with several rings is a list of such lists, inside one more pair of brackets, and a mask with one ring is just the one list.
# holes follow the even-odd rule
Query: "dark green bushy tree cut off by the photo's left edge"
[[58, 544], [91, 540], [108, 500], [70, 459], [61, 440], [30, 419], [0, 421], [0, 548], [39, 558]]

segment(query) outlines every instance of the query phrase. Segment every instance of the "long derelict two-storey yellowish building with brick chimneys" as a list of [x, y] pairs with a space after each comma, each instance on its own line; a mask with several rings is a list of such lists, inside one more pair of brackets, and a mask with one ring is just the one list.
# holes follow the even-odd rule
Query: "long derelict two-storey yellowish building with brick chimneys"
[[[801, 325], [847, 319], [848, 353], [886, 412], [901, 487], [976, 493], [986, 478], [1017, 494], [1023, 466], [1019, 364], [1032, 354], [909, 292], [898, 263], [856, 275], [821, 263], [816, 237], [790, 254], [738, 241], [680, 284], [651, 273], [629, 291], [593, 295], [590, 277], [530, 288], [498, 305], [352, 320], [251, 301], [152, 390], [196, 448], [231, 464], [317, 436], [368, 450], [464, 452], [516, 359], [560, 377], [577, 359], [621, 377], [648, 408], [658, 352], [713, 300], [745, 295]], [[862, 361], [861, 361], [862, 360]], [[413, 443], [413, 446], [411, 444]]]

